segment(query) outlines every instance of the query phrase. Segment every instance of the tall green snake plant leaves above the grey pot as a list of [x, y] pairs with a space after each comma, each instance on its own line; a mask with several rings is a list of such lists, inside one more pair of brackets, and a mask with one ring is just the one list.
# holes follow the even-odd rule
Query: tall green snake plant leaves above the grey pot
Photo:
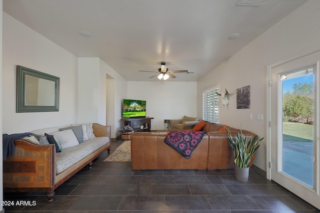
[[[264, 138], [260, 138], [256, 140], [257, 136], [252, 138], [252, 135], [247, 140], [247, 136], [242, 134], [242, 130], [240, 128], [240, 133], [236, 132], [236, 137], [232, 137], [230, 130], [226, 129], [226, 132], [229, 135], [229, 143], [233, 149], [234, 154], [234, 165], [240, 168], [246, 168], [249, 166], [249, 162], [253, 154], [257, 151], [260, 144]], [[256, 141], [255, 141], [256, 140]]]

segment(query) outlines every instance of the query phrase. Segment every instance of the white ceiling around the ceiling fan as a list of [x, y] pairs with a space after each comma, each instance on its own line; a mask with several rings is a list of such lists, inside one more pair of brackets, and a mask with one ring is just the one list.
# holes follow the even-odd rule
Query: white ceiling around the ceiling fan
[[[160, 62], [197, 81], [306, 0], [3, 0], [3, 11], [78, 57], [99, 57], [128, 81], [159, 81]], [[92, 34], [84, 37], [79, 31]], [[238, 32], [236, 39], [228, 39]]]

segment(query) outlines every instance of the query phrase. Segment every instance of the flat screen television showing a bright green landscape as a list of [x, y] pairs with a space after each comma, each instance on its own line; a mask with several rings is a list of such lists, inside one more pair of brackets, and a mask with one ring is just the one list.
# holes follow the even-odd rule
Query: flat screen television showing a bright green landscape
[[123, 99], [122, 118], [145, 117], [146, 101]]

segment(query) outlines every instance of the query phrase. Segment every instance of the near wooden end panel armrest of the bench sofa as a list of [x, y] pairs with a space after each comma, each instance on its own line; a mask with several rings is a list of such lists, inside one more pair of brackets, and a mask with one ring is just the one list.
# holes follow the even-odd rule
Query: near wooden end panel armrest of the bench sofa
[[49, 189], [55, 182], [55, 148], [14, 140], [13, 156], [3, 161], [3, 188]]

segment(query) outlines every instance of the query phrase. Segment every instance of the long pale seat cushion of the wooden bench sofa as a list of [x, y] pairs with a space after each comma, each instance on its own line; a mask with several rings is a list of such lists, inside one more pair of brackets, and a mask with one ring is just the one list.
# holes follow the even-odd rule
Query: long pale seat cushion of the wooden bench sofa
[[109, 143], [108, 137], [96, 137], [56, 153], [56, 174], [71, 167], [107, 143]]

